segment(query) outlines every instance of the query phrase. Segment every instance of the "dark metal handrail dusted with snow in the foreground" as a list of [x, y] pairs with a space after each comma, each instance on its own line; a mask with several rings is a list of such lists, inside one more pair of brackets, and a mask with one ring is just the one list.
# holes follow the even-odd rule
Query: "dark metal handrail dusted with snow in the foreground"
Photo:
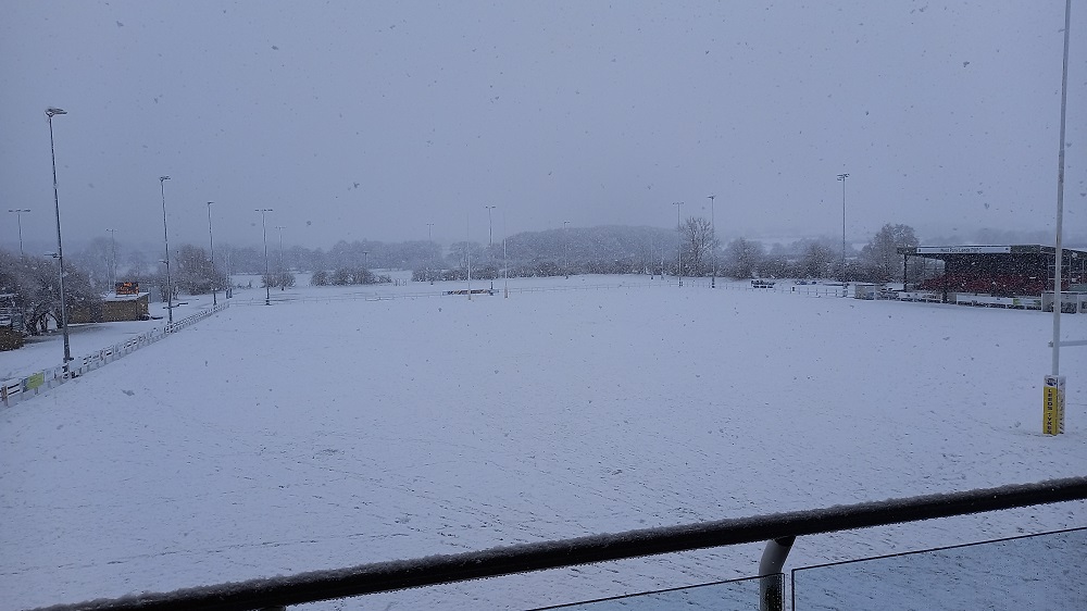
[[578, 564], [1087, 499], [1087, 477], [594, 535], [314, 571], [288, 577], [126, 596], [49, 611], [250, 610], [450, 584]]

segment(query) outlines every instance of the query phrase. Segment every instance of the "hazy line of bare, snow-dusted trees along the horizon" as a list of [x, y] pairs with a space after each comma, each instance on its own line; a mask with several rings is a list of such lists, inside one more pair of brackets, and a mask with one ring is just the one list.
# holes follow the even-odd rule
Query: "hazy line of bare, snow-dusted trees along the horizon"
[[[415, 280], [558, 276], [570, 274], [653, 274], [733, 278], [844, 278], [849, 282], [901, 280], [900, 247], [917, 246], [912, 227], [887, 224], [859, 251], [833, 238], [774, 244], [735, 238], [722, 244], [713, 226], [691, 216], [678, 227], [600, 226], [523, 232], [504, 241], [458, 241], [442, 252], [433, 241], [340, 240], [328, 250], [299, 246], [267, 260], [263, 250], [223, 245], [213, 264], [208, 250], [180, 245], [171, 251], [170, 286], [174, 297], [224, 290], [234, 274], [253, 274], [261, 287], [286, 288], [295, 271], [313, 272], [315, 285], [391, 282], [374, 269], [412, 270]], [[917, 263], [920, 264], [920, 262]], [[96, 238], [65, 258], [65, 291], [72, 307], [93, 310], [116, 282], [137, 282], [166, 299], [163, 260], [139, 250], [118, 258], [115, 244]], [[910, 271], [910, 277], [920, 277]], [[43, 333], [60, 320], [58, 265], [50, 257], [18, 255], [0, 249], [0, 295], [12, 295], [30, 333]]]

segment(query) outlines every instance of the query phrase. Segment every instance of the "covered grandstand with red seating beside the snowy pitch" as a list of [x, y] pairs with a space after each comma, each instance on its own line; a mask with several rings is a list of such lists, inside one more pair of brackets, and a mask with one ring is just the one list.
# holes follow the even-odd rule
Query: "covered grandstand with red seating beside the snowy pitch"
[[[1053, 290], [1057, 249], [1051, 246], [917, 246], [899, 248], [907, 290], [1037, 297]], [[935, 263], [935, 277], [909, 277], [910, 259]], [[1087, 251], [1063, 249], [1061, 290], [1087, 291]], [[926, 266], [927, 269], [927, 266]], [[927, 275], [927, 274], [926, 274]]]

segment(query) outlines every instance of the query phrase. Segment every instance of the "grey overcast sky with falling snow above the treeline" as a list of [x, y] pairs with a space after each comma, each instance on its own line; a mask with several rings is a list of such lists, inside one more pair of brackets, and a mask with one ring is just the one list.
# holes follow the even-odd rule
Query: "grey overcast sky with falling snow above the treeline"
[[[1087, 235], [1074, 0], [1066, 232]], [[1051, 230], [1063, 0], [0, 5], [0, 245], [487, 239], [709, 216], [724, 238]], [[471, 225], [471, 233], [466, 225]], [[271, 237], [271, 236], [270, 236]]]

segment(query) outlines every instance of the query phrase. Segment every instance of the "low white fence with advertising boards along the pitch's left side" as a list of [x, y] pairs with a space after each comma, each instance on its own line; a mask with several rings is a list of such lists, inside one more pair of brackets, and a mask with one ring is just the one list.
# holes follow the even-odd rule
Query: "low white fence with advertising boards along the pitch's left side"
[[207, 319], [216, 312], [222, 312], [223, 310], [229, 308], [229, 306], [230, 303], [228, 301], [224, 301], [210, 310], [204, 310], [192, 314], [191, 316], [186, 316], [173, 324], [167, 324], [162, 328], [152, 328], [149, 332], [141, 333], [136, 337], [130, 337], [125, 341], [114, 344], [113, 346], [103, 348], [80, 359], [73, 359], [68, 362], [67, 372], [64, 371], [64, 365], [59, 365], [48, 370], [35, 372], [26, 377], [5, 379], [0, 383], [0, 404], [10, 408], [20, 401], [25, 401], [36, 397], [50, 388], [55, 388], [61, 384], [64, 384], [68, 379], [79, 377], [80, 375], [97, 370], [107, 363], [112, 363], [122, 357], [132, 354], [145, 346], [150, 346], [151, 344], [159, 341], [172, 333], [177, 333], [197, 321]]

